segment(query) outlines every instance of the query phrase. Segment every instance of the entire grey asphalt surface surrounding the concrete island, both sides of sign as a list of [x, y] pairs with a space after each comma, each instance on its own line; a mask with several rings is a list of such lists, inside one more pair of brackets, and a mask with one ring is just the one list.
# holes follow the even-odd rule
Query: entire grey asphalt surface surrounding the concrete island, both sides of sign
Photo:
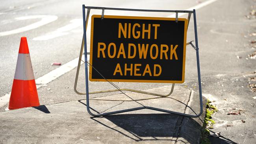
[[[26, 36], [28, 39], [35, 79], [58, 67], [50, 65], [51, 63], [65, 64], [78, 57], [83, 34], [82, 4], [135, 9], [188, 9], [198, 5], [198, 1], [194, 0], [182, 2], [173, 0], [161, 3], [148, 0], [139, 2], [124, 0], [102, 0], [100, 2], [1, 0], [0, 2], [0, 96], [11, 91], [20, 37]], [[202, 90], [205, 96], [215, 98], [215, 104], [220, 107], [219, 113], [215, 116], [215, 121], [219, 125], [216, 125], [217, 127], [213, 131], [222, 131], [223, 138], [220, 142], [223, 143], [229, 140], [229, 142], [249, 144], [253, 143], [256, 137], [254, 126], [256, 122], [255, 107], [251, 106], [255, 103], [252, 97], [256, 96], [256, 93], [250, 91], [247, 87], [254, 82], [248, 80], [255, 77], [254, 70], [256, 69], [255, 59], [250, 59], [248, 56], [256, 51], [256, 46], [250, 43], [250, 41], [256, 39], [255, 35], [252, 35], [256, 30], [256, 19], [250, 15], [252, 9], [256, 9], [255, 6], [254, 0], [217, 0], [208, 6], [197, 9]], [[101, 11], [95, 10], [91, 13], [100, 15]], [[115, 11], [105, 11], [105, 14], [168, 17], [173, 13], [116, 13]], [[247, 15], [249, 18], [246, 17]], [[20, 33], [14, 31], [10, 35], [3, 34], [5, 31], [39, 22], [43, 18], [46, 19], [46, 24], [38, 28]], [[191, 17], [191, 23], [189, 24], [187, 41], [194, 40], [192, 20], [193, 17]], [[89, 31], [87, 32], [89, 34]], [[191, 46], [187, 46], [185, 83], [182, 86], [198, 90], [195, 60], [195, 50]], [[75, 72], [76, 69], [73, 69], [52, 81], [46, 87], [39, 88], [41, 105], [83, 99], [84, 96], [75, 94], [73, 90]], [[81, 70], [80, 78], [78, 89], [84, 91], [84, 70]], [[120, 87], [134, 89], [167, 85], [153, 83], [116, 84]], [[111, 85], [106, 83], [90, 83], [90, 90], [108, 88], [113, 89]], [[100, 95], [97, 94], [96, 96]], [[232, 108], [244, 110], [244, 113], [240, 117], [227, 117], [227, 109]], [[5, 107], [1, 109], [3, 110]], [[241, 121], [241, 119], [247, 120], [246, 125], [232, 123]], [[222, 123], [224, 121], [226, 123]], [[233, 126], [227, 127], [227, 124], [231, 123]], [[232, 133], [225, 130], [226, 128], [230, 129]], [[212, 141], [215, 140], [212, 139]]]

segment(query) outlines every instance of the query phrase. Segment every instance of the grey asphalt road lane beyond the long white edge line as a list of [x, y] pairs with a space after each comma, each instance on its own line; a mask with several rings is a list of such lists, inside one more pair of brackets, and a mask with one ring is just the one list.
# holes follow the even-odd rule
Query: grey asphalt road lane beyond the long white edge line
[[[135, 4], [136, 3], [136, 4]], [[187, 0], [184, 3], [177, 1], [162, 2], [155, 7], [155, 1], [72, 1], [72, 0], [37, 0], [19, 2], [15, 0], [1, 1], [0, 6], [0, 46], [1, 46], [1, 63], [0, 63], [0, 96], [11, 91], [11, 85], [14, 78], [17, 55], [19, 51], [20, 37], [25, 36], [28, 39], [30, 56], [34, 70], [35, 79], [55, 69], [51, 63], [67, 63], [78, 57], [82, 41], [82, 4], [87, 6], [102, 7], [124, 7], [137, 9], [187, 9], [197, 5], [195, 2]], [[92, 10], [91, 14], [101, 14], [99, 10]], [[105, 15], [115, 14], [115, 11], [105, 11]], [[138, 12], [119, 12], [123, 15], [137, 15]], [[173, 13], [141, 13], [141, 16], [159, 16], [167, 17]], [[30, 17], [34, 16], [34, 17]], [[25, 17], [25, 18], [21, 18]], [[18, 28], [24, 28], [28, 25], [42, 21], [38, 28], [24, 30], [17, 33]], [[70, 26], [70, 24], [73, 24]], [[67, 28], [63, 28], [69, 25]], [[59, 28], [62, 28], [60, 30]], [[13, 31], [7, 35], [4, 32]], [[89, 32], [89, 31], [88, 31]], [[46, 39], [42, 36], [47, 37]], [[41, 37], [41, 39], [39, 38]], [[34, 39], [34, 40], [33, 40]]]

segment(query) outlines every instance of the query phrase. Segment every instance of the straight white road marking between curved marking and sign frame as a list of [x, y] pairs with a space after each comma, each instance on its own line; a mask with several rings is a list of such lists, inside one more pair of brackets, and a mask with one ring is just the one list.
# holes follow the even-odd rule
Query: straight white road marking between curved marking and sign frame
[[56, 37], [60, 37], [62, 35], [67, 35], [69, 34], [67, 31], [70, 31], [72, 29], [78, 28], [79, 26], [83, 25], [83, 19], [73, 19], [73, 20], [70, 20], [70, 22], [71, 24], [58, 28], [56, 31], [33, 38], [33, 41], [46, 41], [48, 39], [53, 39]]

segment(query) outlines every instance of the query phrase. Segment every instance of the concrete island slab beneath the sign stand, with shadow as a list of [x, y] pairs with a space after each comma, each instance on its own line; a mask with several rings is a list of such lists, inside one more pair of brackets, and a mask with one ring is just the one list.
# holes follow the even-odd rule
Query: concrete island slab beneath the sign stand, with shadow
[[[171, 87], [147, 89], [166, 94]], [[198, 114], [199, 96], [191, 89], [175, 87], [166, 98], [126, 92], [90, 98], [93, 113], [102, 113], [141, 105]], [[136, 102], [134, 102], [132, 99]], [[168, 143], [196, 144], [200, 142], [205, 116], [187, 118], [152, 110], [92, 117], [86, 111], [85, 100], [41, 105], [1, 112], [0, 143]], [[140, 104], [139, 104], [140, 103]]]

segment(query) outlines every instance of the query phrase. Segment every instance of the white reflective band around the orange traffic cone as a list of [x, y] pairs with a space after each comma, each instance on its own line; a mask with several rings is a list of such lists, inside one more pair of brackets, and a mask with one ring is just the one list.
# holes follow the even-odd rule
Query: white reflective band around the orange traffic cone
[[32, 80], [35, 79], [30, 54], [19, 54], [14, 79]]

